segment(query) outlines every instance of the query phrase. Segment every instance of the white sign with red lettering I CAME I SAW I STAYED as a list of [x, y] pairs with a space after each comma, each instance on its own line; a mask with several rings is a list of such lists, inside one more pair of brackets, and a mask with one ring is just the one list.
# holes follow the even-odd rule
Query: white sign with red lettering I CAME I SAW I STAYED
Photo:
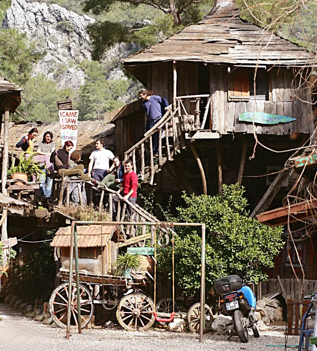
[[59, 110], [62, 147], [65, 141], [73, 142], [74, 147], [71, 151], [76, 150], [77, 144], [77, 126], [78, 126], [78, 110]]

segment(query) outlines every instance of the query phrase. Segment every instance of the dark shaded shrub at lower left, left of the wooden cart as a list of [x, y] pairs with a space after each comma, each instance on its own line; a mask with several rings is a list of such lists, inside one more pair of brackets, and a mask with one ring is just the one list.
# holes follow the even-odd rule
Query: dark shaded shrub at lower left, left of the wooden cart
[[[55, 229], [44, 229], [42, 240], [53, 239]], [[18, 267], [11, 275], [8, 283], [8, 293], [14, 293], [22, 301], [29, 302], [32, 297], [42, 298], [48, 301], [51, 291], [54, 289], [56, 267], [54, 263], [53, 247], [50, 241], [40, 244], [40, 247], [32, 245], [29, 261], [22, 267]]]

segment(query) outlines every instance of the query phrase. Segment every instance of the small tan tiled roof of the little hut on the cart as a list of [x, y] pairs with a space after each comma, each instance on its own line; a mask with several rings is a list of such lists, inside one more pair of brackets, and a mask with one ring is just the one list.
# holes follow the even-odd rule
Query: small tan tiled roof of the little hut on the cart
[[[51, 246], [69, 247], [71, 227], [62, 227], [55, 234]], [[109, 244], [116, 226], [110, 225], [85, 225], [77, 226], [77, 245], [78, 247], [97, 247]]]

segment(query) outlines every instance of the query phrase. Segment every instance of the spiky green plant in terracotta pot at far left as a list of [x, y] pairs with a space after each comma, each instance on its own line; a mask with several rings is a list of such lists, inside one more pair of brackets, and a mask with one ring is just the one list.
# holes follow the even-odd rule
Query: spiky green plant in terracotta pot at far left
[[[21, 179], [27, 181], [33, 175], [45, 175], [44, 171], [41, 169], [40, 164], [37, 161], [33, 160], [33, 157], [36, 155], [36, 153], [30, 155], [29, 157], [25, 157], [25, 154], [26, 152], [21, 153], [18, 166], [14, 166], [14, 155], [12, 153], [12, 164], [11, 168], [8, 170], [8, 177], [10, 179]], [[17, 183], [24, 184], [23, 182]]]

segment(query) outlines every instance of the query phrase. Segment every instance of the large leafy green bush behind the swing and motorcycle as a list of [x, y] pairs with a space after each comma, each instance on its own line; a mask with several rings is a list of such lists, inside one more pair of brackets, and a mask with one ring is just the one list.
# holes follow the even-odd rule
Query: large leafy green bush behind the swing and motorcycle
[[[251, 277], [252, 282], [266, 280], [264, 268], [274, 266], [273, 259], [283, 247], [282, 227], [270, 228], [249, 218], [247, 200], [239, 184], [223, 185], [223, 199], [216, 196], [187, 196], [178, 207], [178, 222], [206, 224], [206, 288], [229, 274]], [[168, 218], [171, 220], [172, 218]], [[178, 227], [174, 235], [175, 279], [181, 289], [194, 295], [200, 288], [201, 234], [192, 227]], [[158, 254], [159, 266], [171, 274], [169, 245]], [[247, 266], [248, 261], [255, 265]]]

